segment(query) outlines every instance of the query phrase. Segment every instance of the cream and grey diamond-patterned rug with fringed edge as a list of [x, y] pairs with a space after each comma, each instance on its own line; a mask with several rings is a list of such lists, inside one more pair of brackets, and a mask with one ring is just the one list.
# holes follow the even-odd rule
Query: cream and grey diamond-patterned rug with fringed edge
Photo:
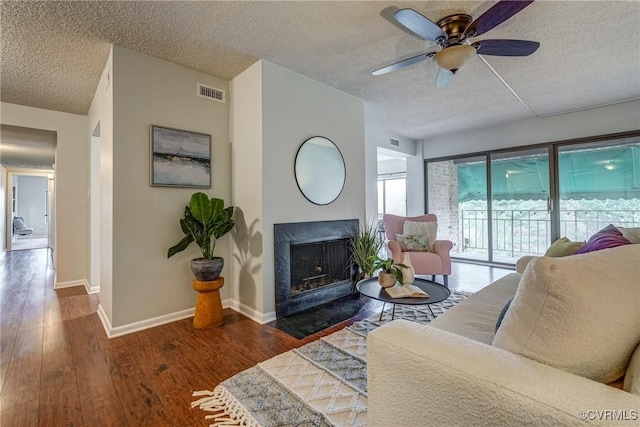
[[[432, 304], [438, 316], [468, 294], [452, 291]], [[279, 354], [220, 383], [196, 391], [191, 404], [210, 412], [211, 426], [365, 426], [367, 424], [367, 334], [390, 322], [379, 314]], [[396, 307], [395, 318], [432, 320], [426, 306]]]

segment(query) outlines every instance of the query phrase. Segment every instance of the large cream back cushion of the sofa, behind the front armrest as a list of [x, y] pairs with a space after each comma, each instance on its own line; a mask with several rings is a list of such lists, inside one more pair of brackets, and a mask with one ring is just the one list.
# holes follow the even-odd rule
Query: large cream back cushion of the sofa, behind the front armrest
[[640, 246], [529, 263], [493, 344], [594, 381], [620, 378], [640, 343]]

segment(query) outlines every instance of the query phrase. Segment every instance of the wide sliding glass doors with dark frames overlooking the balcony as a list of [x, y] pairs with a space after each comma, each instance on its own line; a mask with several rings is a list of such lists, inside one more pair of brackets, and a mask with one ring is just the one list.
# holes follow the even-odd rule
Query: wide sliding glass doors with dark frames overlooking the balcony
[[513, 264], [563, 236], [640, 226], [640, 132], [428, 160], [425, 177], [457, 259]]

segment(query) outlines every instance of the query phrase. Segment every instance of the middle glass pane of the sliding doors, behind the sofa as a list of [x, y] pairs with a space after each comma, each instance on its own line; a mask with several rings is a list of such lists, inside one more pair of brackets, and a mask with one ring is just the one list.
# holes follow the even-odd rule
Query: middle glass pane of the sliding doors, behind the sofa
[[544, 254], [551, 244], [548, 149], [491, 155], [491, 194], [492, 260]]

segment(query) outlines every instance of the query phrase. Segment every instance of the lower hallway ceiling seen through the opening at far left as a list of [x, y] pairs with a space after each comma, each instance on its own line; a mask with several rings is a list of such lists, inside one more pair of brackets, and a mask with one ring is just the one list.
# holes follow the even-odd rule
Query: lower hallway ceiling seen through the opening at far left
[[56, 132], [0, 125], [0, 139], [0, 164], [3, 166], [53, 169]]

